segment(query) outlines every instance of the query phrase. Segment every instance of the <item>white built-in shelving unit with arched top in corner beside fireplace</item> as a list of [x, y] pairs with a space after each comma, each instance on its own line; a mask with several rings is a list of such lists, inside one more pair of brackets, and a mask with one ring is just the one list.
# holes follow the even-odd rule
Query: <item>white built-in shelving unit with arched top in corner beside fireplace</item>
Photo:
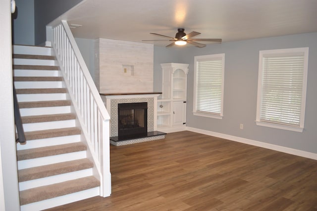
[[164, 63], [162, 94], [158, 98], [158, 130], [185, 130], [188, 64]]

